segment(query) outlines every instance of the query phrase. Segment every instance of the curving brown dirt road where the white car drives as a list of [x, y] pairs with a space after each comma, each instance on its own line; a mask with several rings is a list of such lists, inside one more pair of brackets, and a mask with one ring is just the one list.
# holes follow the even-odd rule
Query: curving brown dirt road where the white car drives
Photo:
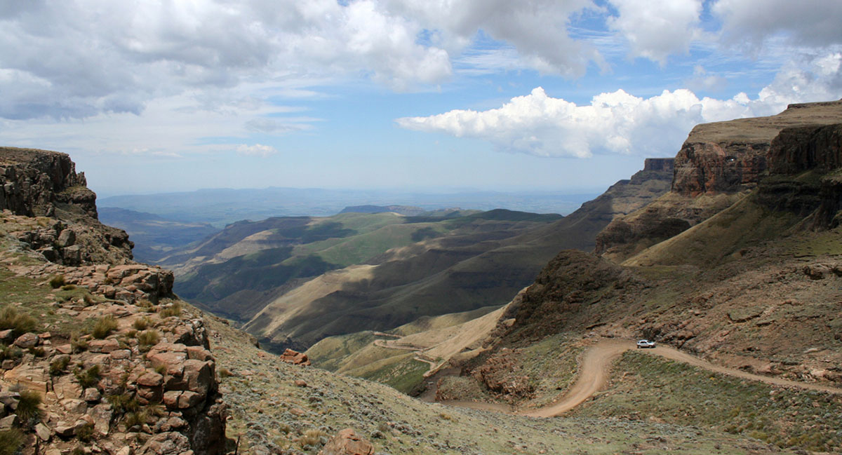
[[[568, 410], [581, 405], [584, 400], [589, 399], [590, 396], [602, 389], [608, 382], [610, 377], [611, 363], [617, 357], [620, 357], [623, 352], [636, 347], [634, 341], [629, 340], [603, 340], [589, 347], [584, 353], [582, 364], [580, 365], [578, 379], [576, 384], [559, 398], [554, 405], [549, 405], [537, 410], [530, 410], [521, 412], [522, 415], [530, 415], [532, 417], [553, 417], [555, 415], [562, 415]], [[842, 394], [842, 389], [836, 389], [826, 385], [799, 383], [782, 378], [771, 378], [767, 376], [760, 376], [758, 374], [746, 373], [741, 370], [733, 368], [724, 368], [714, 365], [711, 362], [701, 360], [701, 358], [693, 357], [685, 352], [680, 352], [672, 347], [658, 346], [654, 349], [647, 349], [646, 352], [657, 354], [661, 357], [666, 357], [678, 362], [685, 362], [695, 367], [704, 368], [706, 370], [736, 376], [738, 378], [749, 379], [752, 381], [760, 381], [766, 384], [781, 385], [784, 387], [796, 387], [799, 389], [821, 390], [823, 392], [830, 392], [832, 394]]]

